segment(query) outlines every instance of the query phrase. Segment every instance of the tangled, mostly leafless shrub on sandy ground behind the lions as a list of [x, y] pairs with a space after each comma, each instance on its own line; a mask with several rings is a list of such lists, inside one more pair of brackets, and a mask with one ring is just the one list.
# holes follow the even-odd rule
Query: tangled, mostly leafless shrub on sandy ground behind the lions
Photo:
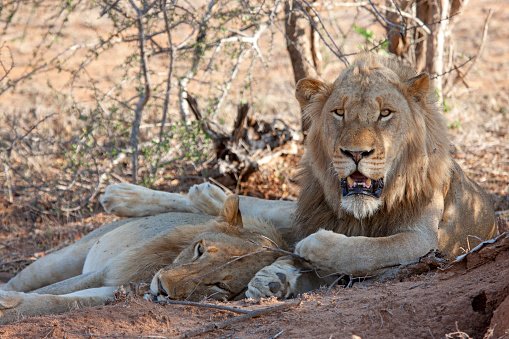
[[[344, 7], [357, 15], [342, 24]], [[69, 23], [85, 16], [100, 22], [82, 21], [92, 27], [92, 38], [62, 43]], [[387, 27], [386, 38], [363, 28], [376, 20]], [[42, 97], [34, 88], [26, 95], [33, 101], [29, 110], [18, 107], [0, 117], [6, 201], [30, 197], [36, 210], [79, 216], [98, 208], [95, 198], [111, 181], [150, 185], [175, 161], [205, 171], [212, 142], [190, 115], [187, 93], [200, 102], [203, 120], [230, 126], [224, 122], [239, 103], [249, 103], [255, 114], [265, 109], [270, 89], [257, 81], [277, 45], [287, 47], [297, 81], [348, 64], [359, 42], [383, 52], [391, 38], [417, 42], [411, 34], [430, 34], [444, 20], [426, 21], [404, 4], [371, 1], [3, 3], [0, 22], [9, 42], [0, 46], [0, 95], [32, 81], [45, 82], [50, 93]], [[278, 34], [286, 40], [278, 41]], [[15, 45], [30, 50], [21, 70]], [[34, 108], [40, 100], [54, 104], [44, 112]]]

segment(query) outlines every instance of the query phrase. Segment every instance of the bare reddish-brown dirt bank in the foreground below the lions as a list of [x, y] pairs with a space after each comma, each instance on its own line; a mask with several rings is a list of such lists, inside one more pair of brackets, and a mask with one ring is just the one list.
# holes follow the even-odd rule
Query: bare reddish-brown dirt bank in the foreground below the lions
[[[295, 301], [220, 303], [259, 311], [258, 317], [203, 306], [162, 305], [121, 297], [106, 306], [22, 319], [2, 338], [135, 336], [235, 338], [508, 338], [509, 233], [445, 269], [372, 286], [318, 291]], [[284, 310], [272, 310], [277, 305]], [[79, 305], [76, 305], [78, 308]], [[243, 317], [235, 320], [234, 317]], [[486, 335], [486, 336], [485, 336]]]

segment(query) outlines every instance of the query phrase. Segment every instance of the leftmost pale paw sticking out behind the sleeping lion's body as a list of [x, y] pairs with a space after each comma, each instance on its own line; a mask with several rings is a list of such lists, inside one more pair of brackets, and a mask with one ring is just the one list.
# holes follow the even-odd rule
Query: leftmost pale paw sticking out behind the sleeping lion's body
[[137, 217], [137, 208], [151, 194], [150, 189], [128, 183], [109, 185], [106, 187], [101, 204], [106, 212], [120, 217]]

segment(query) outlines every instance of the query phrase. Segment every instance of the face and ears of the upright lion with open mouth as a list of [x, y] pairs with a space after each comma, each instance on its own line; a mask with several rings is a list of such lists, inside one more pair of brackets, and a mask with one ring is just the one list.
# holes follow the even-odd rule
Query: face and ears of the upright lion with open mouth
[[427, 75], [402, 81], [391, 69], [370, 65], [347, 69], [332, 85], [299, 82], [296, 96], [311, 120], [309, 163], [331, 206], [366, 218], [410, 186], [405, 180], [415, 178], [403, 179], [399, 170], [408, 162], [422, 163], [415, 175], [423, 179], [428, 92]]

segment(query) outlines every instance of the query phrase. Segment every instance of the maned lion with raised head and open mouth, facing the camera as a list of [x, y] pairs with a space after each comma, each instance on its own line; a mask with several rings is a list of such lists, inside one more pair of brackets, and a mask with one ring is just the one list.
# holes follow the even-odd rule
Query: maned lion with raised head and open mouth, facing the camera
[[[296, 254], [325, 271], [365, 276], [431, 249], [455, 256], [496, 235], [490, 199], [449, 154], [428, 75], [364, 55], [332, 84], [299, 81], [296, 97], [310, 125], [298, 203], [240, 201], [244, 215], [282, 229]], [[225, 198], [211, 185], [178, 197], [121, 184], [102, 202], [120, 215], [181, 208], [215, 214]], [[246, 295], [301, 292], [298, 268], [291, 258], [278, 259], [251, 280]]]

